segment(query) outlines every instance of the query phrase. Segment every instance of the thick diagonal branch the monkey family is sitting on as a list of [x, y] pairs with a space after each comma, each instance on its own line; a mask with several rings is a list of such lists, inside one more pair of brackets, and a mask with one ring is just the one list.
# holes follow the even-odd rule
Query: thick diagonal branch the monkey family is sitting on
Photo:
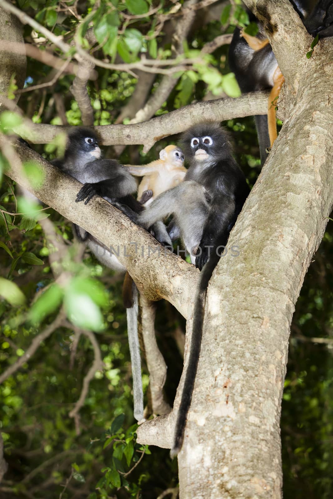
[[146, 231], [132, 224], [102, 198], [95, 196], [86, 206], [75, 203], [76, 193], [81, 188], [79, 182], [21, 144], [17, 145], [16, 151], [22, 161], [39, 163], [45, 174], [44, 184], [39, 189], [32, 189], [21, 178], [19, 165], [14, 160], [6, 175], [71, 222], [83, 227], [107, 248], [113, 247], [140, 292], [148, 299], [165, 298], [187, 317], [192, 306], [190, 297], [199, 275], [193, 265], [165, 250]]

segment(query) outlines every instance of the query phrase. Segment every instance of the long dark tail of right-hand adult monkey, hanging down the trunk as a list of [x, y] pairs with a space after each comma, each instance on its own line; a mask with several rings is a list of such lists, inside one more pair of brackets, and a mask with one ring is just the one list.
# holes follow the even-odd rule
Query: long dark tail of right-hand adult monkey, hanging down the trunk
[[194, 381], [197, 374], [198, 361], [201, 350], [202, 328], [204, 323], [204, 311], [206, 305], [207, 287], [209, 280], [212, 276], [213, 270], [220, 259], [220, 257], [217, 255], [216, 251], [217, 247], [218, 245], [214, 247], [211, 257], [209, 258], [208, 262], [202, 269], [199, 278], [198, 291], [195, 298], [189, 360], [185, 374], [185, 382], [182, 391], [180, 406], [178, 409], [173, 447], [170, 451], [171, 458], [177, 456], [177, 454], [182, 448], [184, 441], [186, 418], [191, 405]]

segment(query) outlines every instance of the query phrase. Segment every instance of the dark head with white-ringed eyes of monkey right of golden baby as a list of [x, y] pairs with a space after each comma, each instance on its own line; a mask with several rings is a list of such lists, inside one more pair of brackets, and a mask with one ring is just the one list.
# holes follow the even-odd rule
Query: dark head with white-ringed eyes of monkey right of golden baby
[[192, 126], [182, 135], [185, 156], [201, 162], [231, 154], [228, 134], [218, 123], [204, 121]]

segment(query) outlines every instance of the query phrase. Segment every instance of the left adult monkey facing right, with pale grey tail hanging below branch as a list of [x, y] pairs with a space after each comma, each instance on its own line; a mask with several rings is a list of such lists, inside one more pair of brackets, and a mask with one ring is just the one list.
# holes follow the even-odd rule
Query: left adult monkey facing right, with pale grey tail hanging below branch
[[[136, 191], [135, 179], [117, 161], [100, 159], [100, 155], [101, 150], [95, 132], [88, 128], [75, 128], [68, 135], [63, 159], [56, 159], [52, 163], [64, 173], [84, 184], [76, 196], [76, 202], [85, 200], [85, 204], [87, 204], [95, 194], [98, 194], [124, 212], [133, 222], [136, 222], [142, 206], [131, 196]], [[160, 223], [156, 227], [155, 237], [158, 233], [162, 241], [169, 241], [163, 224]], [[81, 227], [74, 225], [74, 228], [77, 237], [85, 242], [101, 263], [114, 270], [126, 271], [115, 254], [100, 241], [93, 238]], [[162, 232], [164, 228], [165, 234], [160, 234], [160, 228]], [[133, 375], [134, 417], [137, 421], [142, 421], [143, 391], [137, 332], [138, 299], [134, 283], [132, 293], [131, 307], [127, 308], [127, 329]]]

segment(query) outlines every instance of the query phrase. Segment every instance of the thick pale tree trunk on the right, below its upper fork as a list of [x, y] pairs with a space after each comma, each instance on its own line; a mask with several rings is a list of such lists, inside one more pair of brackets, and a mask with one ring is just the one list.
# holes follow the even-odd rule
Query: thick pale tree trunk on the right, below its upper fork
[[281, 498], [290, 325], [333, 202], [332, 61], [332, 39], [305, 59], [289, 118], [229, 239], [240, 254], [221, 258], [211, 279], [178, 459], [182, 499]]

